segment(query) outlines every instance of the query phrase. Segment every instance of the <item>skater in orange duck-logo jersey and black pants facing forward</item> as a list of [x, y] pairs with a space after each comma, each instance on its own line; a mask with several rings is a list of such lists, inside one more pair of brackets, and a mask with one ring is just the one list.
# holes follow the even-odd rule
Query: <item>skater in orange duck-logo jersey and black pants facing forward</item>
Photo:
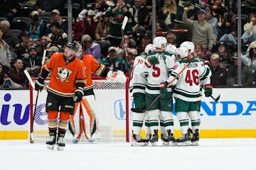
[[[46, 142], [48, 149], [54, 149], [57, 141], [57, 149], [63, 150], [65, 143], [63, 138], [68, 128], [70, 114], [73, 114], [75, 102], [80, 102], [85, 86], [85, 66], [81, 60], [75, 57], [78, 51], [76, 42], [68, 42], [65, 52], [55, 52], [51, 60], [42, 69], [41, 75], [36, 81], [36, 90], [42, 90], [44, 79], [51, 72], [48, 96], [46, 99], [46, 112], [48, 113], [48, 128], [50, 139]], [[58, 119], [59, 115], [59, 122]]]

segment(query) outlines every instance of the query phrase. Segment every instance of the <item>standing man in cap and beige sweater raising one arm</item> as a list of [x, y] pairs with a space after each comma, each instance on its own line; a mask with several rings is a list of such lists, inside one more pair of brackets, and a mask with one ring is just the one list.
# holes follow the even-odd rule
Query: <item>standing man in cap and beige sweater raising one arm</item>
[[215, 38], [213, 35], [213, 28], [210, 23], [206, 22], [206, 11], [198, 10], [198, 20], [193, 21], [187, 18], [188, 7], [184, 8], [182, 21], [192, 28], [192, 42], [194, 44], [201, 44], [203, 47], [203, 54], [210, 55]]

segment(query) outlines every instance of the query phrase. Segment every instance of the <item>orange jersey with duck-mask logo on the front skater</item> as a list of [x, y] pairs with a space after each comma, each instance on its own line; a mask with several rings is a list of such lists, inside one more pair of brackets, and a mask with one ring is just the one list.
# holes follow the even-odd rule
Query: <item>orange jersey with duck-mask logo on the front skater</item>
[[78, 82], [85, 83], [85, 66], [81, 60], [74, 57], [69, 62], [65, 61], [64, 52], [55, 52], [43, 69], [51, 72], [48, 91], [63, 97], [72, 97]]

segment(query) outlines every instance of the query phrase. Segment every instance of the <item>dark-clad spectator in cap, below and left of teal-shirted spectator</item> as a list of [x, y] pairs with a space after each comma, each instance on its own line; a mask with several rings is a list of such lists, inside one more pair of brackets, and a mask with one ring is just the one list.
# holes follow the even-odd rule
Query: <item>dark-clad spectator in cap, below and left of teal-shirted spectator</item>
[[21, 42], [15, 47], [16, 57], [22, 59], [23, 57], [28, 57], [28, 47], [33, 45], [30, 40], [31, 34], [25, 30], [21, 34]]

